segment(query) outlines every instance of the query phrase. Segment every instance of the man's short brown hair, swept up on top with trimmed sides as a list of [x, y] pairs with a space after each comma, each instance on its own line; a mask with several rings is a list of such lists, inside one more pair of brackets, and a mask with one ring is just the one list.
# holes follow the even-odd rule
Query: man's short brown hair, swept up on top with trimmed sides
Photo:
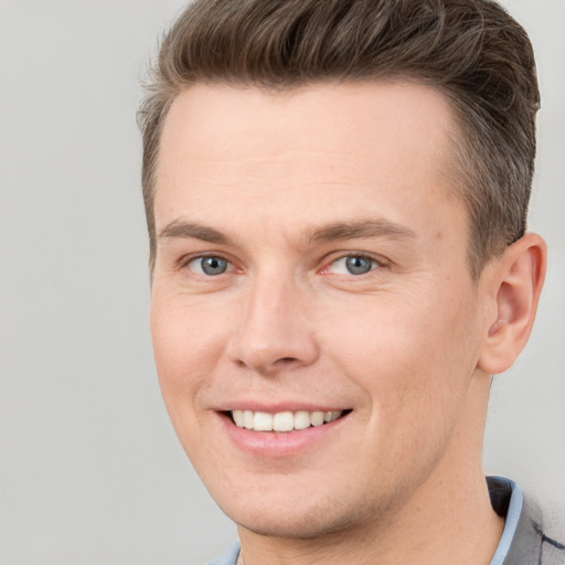
[[151, 267], [160, 134], [181, 90], [195, 83], [286, 89], [402, 77], [438, 88], [455, 110], [454, 170], [478, 279], [524, 234], [540, 107], [527, 35], [491, 0], [191, 3], [161, 44], [138, 114]]

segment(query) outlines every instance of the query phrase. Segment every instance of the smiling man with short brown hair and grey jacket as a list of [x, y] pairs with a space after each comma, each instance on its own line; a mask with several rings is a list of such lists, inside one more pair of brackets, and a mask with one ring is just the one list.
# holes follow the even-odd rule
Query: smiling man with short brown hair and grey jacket
[[215, 564], [565, 563], [486, 481], [545, 273], [539, 93], [488, 0], [203, 0], [140, 110], [151, 332]]

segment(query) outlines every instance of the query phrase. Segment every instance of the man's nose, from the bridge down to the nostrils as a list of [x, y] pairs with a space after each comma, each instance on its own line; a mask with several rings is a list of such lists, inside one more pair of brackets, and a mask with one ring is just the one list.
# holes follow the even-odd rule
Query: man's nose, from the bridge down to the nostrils
[[265, 376], [312, 364], [319, 350], [305, 295], [289, 281], [264, 279], [250, 285], [227, 345], [230, 359]]

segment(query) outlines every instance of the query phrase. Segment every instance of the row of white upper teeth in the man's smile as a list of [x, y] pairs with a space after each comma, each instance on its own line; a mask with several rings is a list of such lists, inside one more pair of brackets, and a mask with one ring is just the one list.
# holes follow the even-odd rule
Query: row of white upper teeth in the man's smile
[[279, 412], [268, 414], [266, 412], [232, 411], [232, 417], [238, 428], [253, 429], [254, 431], [290, 431], [292, 429], [306, 429], [310, 426], [321, 426], [333, 422], [343, 414], [343, 411], [331, 412]]

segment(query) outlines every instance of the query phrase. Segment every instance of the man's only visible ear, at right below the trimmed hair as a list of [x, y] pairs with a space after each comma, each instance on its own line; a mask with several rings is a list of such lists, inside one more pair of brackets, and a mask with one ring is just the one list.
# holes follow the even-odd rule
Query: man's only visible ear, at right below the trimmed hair
[[[525, 234], [508, 247], [495, 268], [487, 269], [489, 296], [494, 301], [479, 369], [498, 374], [509, 369], [532, 331], [545, 279], [547, 247], [537, 234]], [[495, 312], [495, 315], [494, 315]]]

